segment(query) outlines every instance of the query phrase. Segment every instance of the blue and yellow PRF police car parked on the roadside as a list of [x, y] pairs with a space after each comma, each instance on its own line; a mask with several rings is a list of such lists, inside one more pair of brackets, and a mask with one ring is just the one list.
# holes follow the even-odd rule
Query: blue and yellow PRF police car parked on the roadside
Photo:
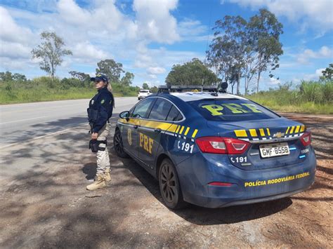
[[270, 201], [313, 184], [315, 152], [302, 123], [244, 97], [198, 90], [162, 87], [117, 121], [117, 155], [157, 178], [167, 207]]

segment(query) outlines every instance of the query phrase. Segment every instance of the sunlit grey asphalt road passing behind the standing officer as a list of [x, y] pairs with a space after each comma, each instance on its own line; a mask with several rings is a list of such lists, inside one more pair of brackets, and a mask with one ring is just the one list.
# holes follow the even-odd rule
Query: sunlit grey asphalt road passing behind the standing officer
[[[116, 97], [114, 114], [129, 110], [137, 101], [136, 97]], [[86, 124], [88, 103], [64, 100], [0, 106], [0, 149]]]

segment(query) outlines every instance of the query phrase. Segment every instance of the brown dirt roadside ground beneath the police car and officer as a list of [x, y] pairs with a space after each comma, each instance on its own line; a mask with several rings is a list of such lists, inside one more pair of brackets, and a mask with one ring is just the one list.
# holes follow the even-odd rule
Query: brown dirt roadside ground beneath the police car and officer
[[0, 248], [332, 248], [333, 116], [283, 115], [313, 132], [315, 184], [290, 198], [246, 206], [169, 210], [157, 180], [112, 149], [110, 186], [86, 191], [96, 172], [86, 128], [1, 152], [8, 166], [32, 156], [32, 148], [40, 161], [1, 184]]

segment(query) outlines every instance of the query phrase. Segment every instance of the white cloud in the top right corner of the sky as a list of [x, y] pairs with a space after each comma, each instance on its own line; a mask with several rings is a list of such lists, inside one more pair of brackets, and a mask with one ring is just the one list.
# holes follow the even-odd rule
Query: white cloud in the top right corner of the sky
[[302, 29], [313, 27], [322, 33], [333, 28], [332, 0], [229, 0], [241, 6], [250, 6], [253, 10], [261, 7], [278, 16], [285, 16], [292, 22], [301, 20]]

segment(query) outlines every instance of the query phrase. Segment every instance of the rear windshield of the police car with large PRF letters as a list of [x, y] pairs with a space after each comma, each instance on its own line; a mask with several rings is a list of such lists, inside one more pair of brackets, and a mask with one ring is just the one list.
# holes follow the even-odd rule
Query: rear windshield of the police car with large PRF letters
[[209, 121], [248, 121], [279, 116], [249, 100], [209, 99], [188, 102]]

